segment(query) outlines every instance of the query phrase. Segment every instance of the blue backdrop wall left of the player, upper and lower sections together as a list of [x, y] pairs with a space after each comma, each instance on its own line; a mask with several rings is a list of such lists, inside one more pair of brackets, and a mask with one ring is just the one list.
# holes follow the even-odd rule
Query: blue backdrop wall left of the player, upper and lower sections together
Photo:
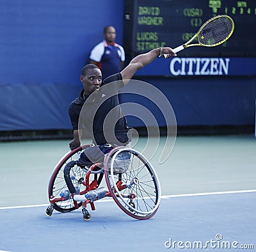
[[104, 26], [122, 43], [123, 9], [120, 0], [0, 0], [0, 130], [70, 129], [81, 68]]

